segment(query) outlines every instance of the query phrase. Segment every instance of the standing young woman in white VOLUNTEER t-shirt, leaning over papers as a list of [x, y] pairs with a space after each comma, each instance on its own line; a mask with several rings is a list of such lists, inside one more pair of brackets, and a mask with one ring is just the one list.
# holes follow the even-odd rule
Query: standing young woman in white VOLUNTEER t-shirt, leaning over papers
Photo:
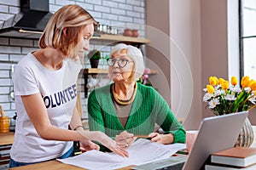
[[[96, 20], [84, 8], [67, 5], [49, 20], [38, 51], [15, 68], [15, 142], [10, 167], [72, 156], [73, 141], [81, 150], [99, 150], [95, 140], [120, 156], [128, 156], [102, 132], [86, 132], [75, 107], [79, 54], [89, 48]], [[72, 130], [69, 130], [70, 127]]]

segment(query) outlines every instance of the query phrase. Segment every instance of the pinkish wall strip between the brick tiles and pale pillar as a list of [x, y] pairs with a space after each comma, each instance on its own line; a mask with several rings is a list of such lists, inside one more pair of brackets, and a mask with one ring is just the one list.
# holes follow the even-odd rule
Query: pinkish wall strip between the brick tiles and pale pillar
[[147, 66], [159, 71], [150, 76], [154, 88], [171, 104], [171, 68], [170, 68], [170, 18], [169, 0], [147, 0], [146, 3], [146, 37], [151, 43], [147, 45]]

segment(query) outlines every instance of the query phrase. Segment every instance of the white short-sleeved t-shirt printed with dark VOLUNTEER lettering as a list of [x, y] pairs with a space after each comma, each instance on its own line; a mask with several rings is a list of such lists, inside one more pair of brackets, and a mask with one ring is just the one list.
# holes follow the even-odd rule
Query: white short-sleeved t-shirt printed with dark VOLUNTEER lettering
[[65, 59], [58, 71], [46, 69], [33, 54], [20, 60], [13, 77], [17, 112], [15, 141], [10, 150], [13, 160], [47, 161], [62, 156], [72, 147], [72, 141], [45, 140], [38, 135], [27, 116], [21, 95], [41, 93], [51, 124], [67, 129], [77, 100], [76, 82], [80, 69], [79, 60]]

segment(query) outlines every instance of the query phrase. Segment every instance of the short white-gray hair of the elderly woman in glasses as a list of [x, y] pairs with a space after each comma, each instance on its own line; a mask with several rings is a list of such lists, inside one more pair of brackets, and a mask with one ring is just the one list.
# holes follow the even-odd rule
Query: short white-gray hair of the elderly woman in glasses
[[143, 72], [145, 70], [143, 53], [139, 48], [126, 45], [125, 43], [118, 43], [111, 50], [110, 56], [115, 53], [119, 53], [122, 49], [126, 49], [127, 55], [134, 61], [134, 75], [132, 79], [133, 81], [137, 81], [138, 78], [143, 76]]

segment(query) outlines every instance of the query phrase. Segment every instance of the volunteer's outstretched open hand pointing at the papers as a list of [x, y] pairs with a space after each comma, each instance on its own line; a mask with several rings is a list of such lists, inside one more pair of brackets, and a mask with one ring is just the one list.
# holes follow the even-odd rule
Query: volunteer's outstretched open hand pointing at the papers
[[112, 150], [114, 153], [119, 156], [128, 157], [129, 154], [126, 150], [121, 148], [116, 142], [109, 138], [108, 135], [100, 131], [78, 131], [83, 137], [84, 141], [90, 139], [95, 140], [106, 146], [109, 150]]

